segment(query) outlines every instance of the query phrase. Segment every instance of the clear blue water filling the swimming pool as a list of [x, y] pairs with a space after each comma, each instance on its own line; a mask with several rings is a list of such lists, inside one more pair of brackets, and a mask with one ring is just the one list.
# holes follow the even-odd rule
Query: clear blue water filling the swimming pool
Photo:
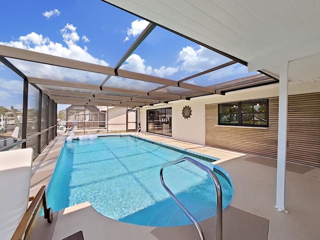
[[[124, 222], [149, 226], [188, 224], [189, 219], [159, 178], [161, 165], [183, 156], [130, 136], [65, 142], [49, 184], [48, 205], [57, 211], [89, 201], [101, 214]], [[191, 157], [210, 166], [208, 161]], [[225, 178], [217, 176], [225, 207], [233, 189]], [[204, 171], [184, 161], [165, 168], [163, 178], [198, 221], [215, 214], [215, 189]]]

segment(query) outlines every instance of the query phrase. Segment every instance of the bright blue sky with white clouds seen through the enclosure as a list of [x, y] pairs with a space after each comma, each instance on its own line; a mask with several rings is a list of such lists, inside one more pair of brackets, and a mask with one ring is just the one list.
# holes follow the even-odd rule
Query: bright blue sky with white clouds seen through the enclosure
[[[114, 67], [148, 22], [101, 0], [4, 1], [0, 44]], [[27, 76], [99, 85], [105, 75], [8, 59]], [[179, 80], [230, 59], [159, 26], [121, 68]], [[239, 63], [186, 81], [203, 86], [255, 74]], [[151, 90], [155, 83], [111, 77], [105, 86]], [[22, 78], [0, 63], [0, 105], [22, 109]], [[37, 108], [31, 90], [28, 108]], [[170, 93], [170, 88], [162, 89]], [[33, 99], [33, 100], [32, 100]], [[58, 110], [64, 108], [59, 105]]]

